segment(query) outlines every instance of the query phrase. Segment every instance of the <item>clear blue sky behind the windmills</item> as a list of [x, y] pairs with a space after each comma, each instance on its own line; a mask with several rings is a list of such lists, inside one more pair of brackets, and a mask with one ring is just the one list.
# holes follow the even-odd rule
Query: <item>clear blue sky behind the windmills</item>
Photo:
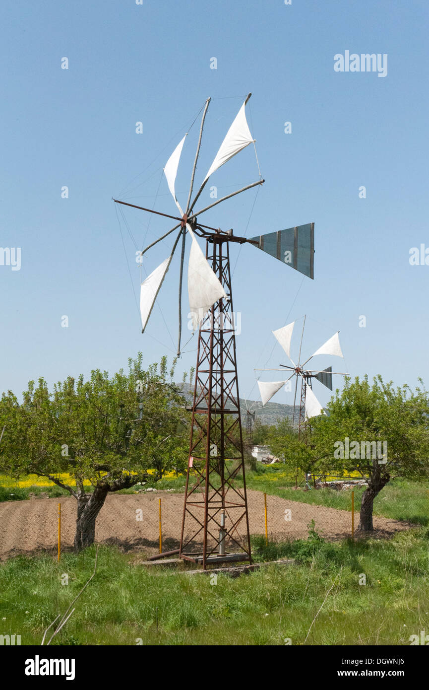
[[[351, 375], [412, 385], [421, 376], [429, 385], [429, 266], [409, 263], [411, 247], [429, 246], [428, 15], [423, 0], [3, 3], [0, 246], [21, 248], [21, 269], [0, 266], [0, 390], [20, 394], [30, 379], [52, 384], [91, 368], [113, 373], [138, 351], [146, 364], [174, 355], [177, 257], [141, 335], [135, 247], [126, 233], [124, 253], [111, 197], [175, 215], [161, 179], [168, 156], [212, 97], [201, 181], [250, 91], [266, 183], [253, 211], [255, 190], [201, 222], [252, 237], [315, 221], [316, 254], [312, 281], [241, 248], [233, 278], [241, 395], [257, 395], [255, 367], [286, 363], [271, 330], [304, 313], [304, 355], [339, 330]], [[334, 56], [346, 50], [387, 54], [388, 75], [335, 72]], [[195, 124], [177, 177], [183, 201], [197, 135]], [[211, 184], [224, 195], [257, 178], [248, 147]], [[170, 228], [125, 213], [138, 248]], [[145, 272], [170, 245], [146, 255]], [[188, 334], [185, 322], [185, 341]], [[194, 364], [196, 346], [195, 336], [179, 371]], [[335, 357], [317, 364], [344, 366]], [[315, 384], [315, 392], [326, 403], [328, 391]]]

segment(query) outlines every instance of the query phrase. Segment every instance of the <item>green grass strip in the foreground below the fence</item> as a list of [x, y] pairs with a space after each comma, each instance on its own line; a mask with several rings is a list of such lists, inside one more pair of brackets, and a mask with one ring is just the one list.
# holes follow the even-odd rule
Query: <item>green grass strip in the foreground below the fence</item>
[[[94, 580], [54, 642], [410, 644], [410, 635], [429, 629], [428, 547], [425, 528], [356, 544], [324, 542], [314, 529], [307, 540], [283, 544], [255, 538], [257, 560], [284, 556], [295, 564], [268, 564], [237, 579], [218, 575], [214, 585], [210, 575], [148, 570], [103, 546]], [[93, 567], [93, 547], [60, 563], [44, 556], [1, 564], [0, 634], [40, 644]]]

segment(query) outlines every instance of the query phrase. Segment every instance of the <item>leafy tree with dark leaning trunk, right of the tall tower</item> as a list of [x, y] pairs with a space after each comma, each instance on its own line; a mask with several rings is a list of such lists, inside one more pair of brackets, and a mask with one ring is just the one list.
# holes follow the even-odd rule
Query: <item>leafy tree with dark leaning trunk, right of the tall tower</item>
[[[395, 388], [375, 377], [348, 377], [328, 405], [327, 415], [312, 421], [312, 446], [319, 469], [359, 472], [368, 477], [359, 530], [372, 531], [375, 497], [395, 477], [429, 476], [429, 403], [423, 388]], [[377, 445], [378, 444], [378, 445]]]

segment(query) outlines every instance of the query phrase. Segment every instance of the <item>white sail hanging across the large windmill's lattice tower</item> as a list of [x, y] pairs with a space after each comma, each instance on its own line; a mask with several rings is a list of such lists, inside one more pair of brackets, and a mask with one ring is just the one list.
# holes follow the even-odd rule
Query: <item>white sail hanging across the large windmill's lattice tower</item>
[[218, 299], [227, 295], [219, 278], [208, 265], [190, 225], [186, 224], [186, 228], [192, 237], [188, 267], [188, 293], [192, 328], [196, 331], [210, 307]]

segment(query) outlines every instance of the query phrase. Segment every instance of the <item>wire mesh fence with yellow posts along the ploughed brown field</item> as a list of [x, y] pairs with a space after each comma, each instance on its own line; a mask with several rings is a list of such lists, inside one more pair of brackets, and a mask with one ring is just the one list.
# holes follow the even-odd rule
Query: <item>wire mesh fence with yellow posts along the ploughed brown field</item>
[[[388, 509], [388, 496], [380, 496], [382, 509], [375, 511], [374, 531], [364, 534], [359, 532], [361, 489], [340, 482], [332, 498], [332, 485], [328, 482], [319, 481], [318, 489], [312, 486], [313, 478], [311, 482], [308, 478], [306, 483], [308, 486], [293, 491], [292, 497], [292, 488], [286, 492], [288, 497], [248, 489], [250, 535], [279, 542], [306, 539], [309, 529], [315, 529], [323, 538], [333, 541], [363, 536], [389, 538], [398, 531], [429, 524], [427, 490], [421, 493], [419, 501], [414, 497], [413, 506], [408, 506], [410, 509], [407, 509], [408, 499], [404, 494], [395, 511]], [[183, 501], [183, 492], [177, 490], [141, 489], [126, 495], [108, 494], [97, 516], [95, 541], [113, 544], [122, 551], [141, 552], [145, 557], [178, 549]], [[333, 504], [337, 507], [333, 507]], [[34, 497], [33, 500], [1, 502], [0, 560], [19, 554], [54, 554], [59, 544], [63, 553], [72, 551], [76, 520], [77, 501], [74, 497]], [[226, 520], [228, 526], [228, 510]], [[185, 540], [187, 536], [184, 535]], [[237, 524], [235, 538], [237, 542], [245, 544], [245, 520]], [[209, 545], [213, 546], [215, 539], [216, 534], [212, 532]], [[201, 549], [202, 542], [201, 531], [193, 540], [196, 550]], [[226, 544], [226, 549], [236, 551], [237, 546]]]

